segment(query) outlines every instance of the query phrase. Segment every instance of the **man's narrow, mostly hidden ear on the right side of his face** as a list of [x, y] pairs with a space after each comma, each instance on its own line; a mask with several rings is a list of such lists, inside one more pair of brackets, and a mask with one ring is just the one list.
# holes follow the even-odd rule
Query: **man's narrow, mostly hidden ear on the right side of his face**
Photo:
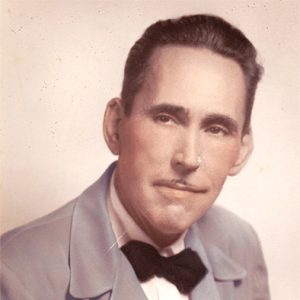
[[251, 153], [253, 151], [253, 136], [252, 130], [249, 129], [242, 137], [241, 147], [238, 157], [234, 165], [229, 170], [229, 175], [234, 176], [238, 174], [246, 165]]

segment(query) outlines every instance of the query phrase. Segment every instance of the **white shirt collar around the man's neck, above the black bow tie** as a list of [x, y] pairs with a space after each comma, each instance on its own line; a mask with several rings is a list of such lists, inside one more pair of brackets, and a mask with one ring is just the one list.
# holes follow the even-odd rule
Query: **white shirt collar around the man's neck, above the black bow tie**
[[159, 248], [152, 239], [137, 225], [120, 201], [115, 188], [115, 172], [112, 175], [108, 194], [108, 212], [119, 247], [131, 240], [138, 240], [155, 247], [161, 255], [171, 256], [184, 250], [186, 231], [171, 245]]

